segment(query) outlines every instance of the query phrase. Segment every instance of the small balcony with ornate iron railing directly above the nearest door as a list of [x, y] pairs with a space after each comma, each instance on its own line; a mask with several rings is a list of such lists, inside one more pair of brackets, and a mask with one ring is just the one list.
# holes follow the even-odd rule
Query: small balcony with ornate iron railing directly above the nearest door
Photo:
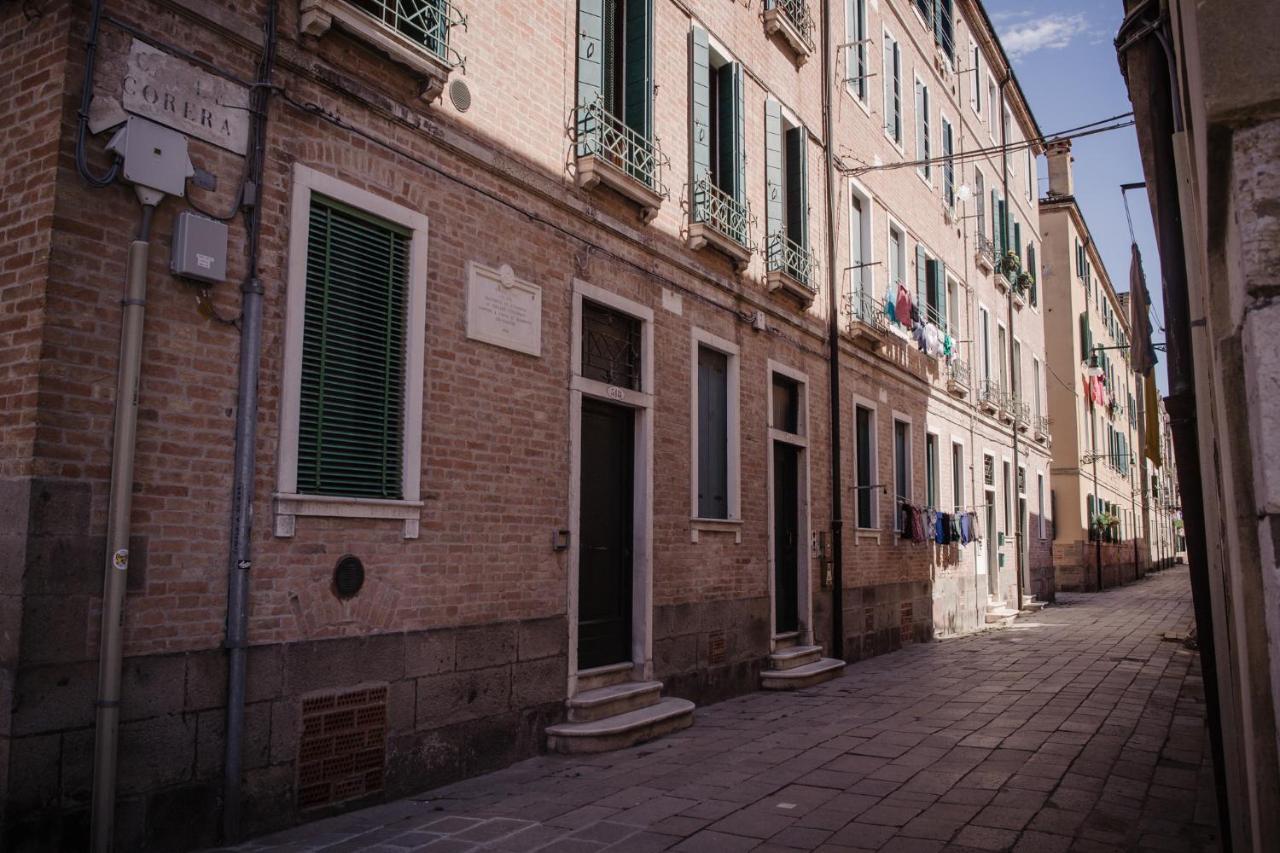
[[649, 140], [604, 108], [602, 101], [575, 110], [573, 141], [577, 186], [604, 184], [640, 205], [645, 222], [658, 215], [667, 187], [662, 183], [666, 158]]

